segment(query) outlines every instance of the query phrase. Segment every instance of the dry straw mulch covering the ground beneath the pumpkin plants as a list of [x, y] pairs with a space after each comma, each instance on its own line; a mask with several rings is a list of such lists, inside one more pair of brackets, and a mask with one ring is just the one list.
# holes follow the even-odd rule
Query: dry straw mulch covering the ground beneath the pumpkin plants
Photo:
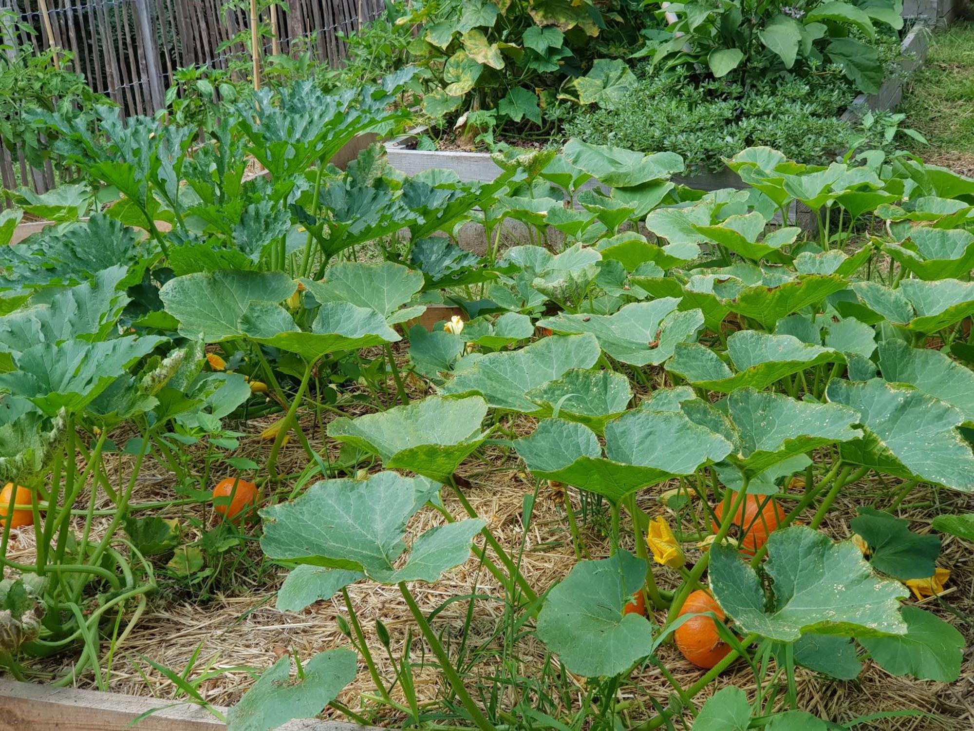
[[[418, 388], [418, 383], [411, 384]], [[420, 394], [417, 394], [420, 396]], [[329, 417], [330, 418], [330, 417]], [[259, 452], [266, 449], [266, 442], [257, 438], [270, 419], [255, 420], [235, 425], [249, 436], [237, 454]], [[304, 422], [306, 433], [312, 437], [316, 448], [322, 449], [320, 424]], [[522, 420], [515, 425], [517, 430], [530, 431], [530, 420]], [[281, 458], [283, 473], [297, 473], [307, 463], [307, 457], [299, 445], [291, 442]], [[328, 443], [332, 458], [337, 457], [337, 445]], [[125, 457], [118, 459], [125, 460]], [[124, 470], [125, 465], [119, 469]], [[534, 489], [534, 483], [522, 472], [516, 456], [504, 454], [500, 449], [490, 448], [479, 460], [471, 459], [462, 468], [462, 475], [469, 482], [467, 494], [478, 514], [490, 521], [492, 530], [508, 549], [525, 541], [522, 568], [528, 581], [538, 590], [545, 589], [564, 577], [576, 562], [572, 540], [565, 519], [564, 507], [556, 499], [542, 492], [535, 511], [530, 530], [525, 534], [522, 524], [522, 500], [526, 493]], [[165, 500], [175, 496], [172, 478], [159, 465], [149, 463], [143, 469], [141, 481], [135, 492], [135, 502]], [[288, 488], [290, 485], [288, 485]], [[663, 513], [663, 507], [656, 499], [661, 491], [646, 491], [641, 496], [641, 507], [651, 515]], [[855, 517], [859, 505], [870, 505], [879, 499], [879, 507], [891, 500], [888, 485], [878, 481], [862, 481], [843, 492], [835, 509], [822, 526], [835, 538], [847, 538], [848, 521]], [[578, 494], [573, 494], [578, 499]], [[462, 512], [456, 498], [444, 489], [446, 507], [455, 515]], [[578, 507], [578, 503], [576, 503]], [[110, 507], [109, 505], [99, 507]], [[929, 529], [933, 516], [940, 513], [971, 512], [974, 500], [960, 493], [920, 487], [910, 495], [900, 515], [912, 520], [914, 530]], [[186, 518], [195, 515], [204, 519], [204, 509], [200, 506], [173, 508], [170, 517]], [[210, 518], [212, 518], [210, 516]], [[425, 511], [410, 524], [415, 532], [440, 522], [442, 519], [431, 511]], [[185, 523], [185, 521], [183, 521]], [[605, 534], [604, 515], [594, 516], [581, 523], [581, 532], [593, 558], [608, 555], [609, 543]], [[99, 519], [94, 524], [94, 534], [103, 529], [107, 519]], [[627, 534], [629, 547], [633, 538]], [[29, 560], [33, 553], [32, 529], [20, 531], [14, 544], [11, 558]], [[259, 548], [254, 542], [248, 549], [249, 557], [259, 562]], [[695, 558], [693, 556], [691, 559]], [[950, 586], [954, 589], [946, 597], [958, 614], [969, 620], [974, 617], [974, 557], [970, 546], [958, 539], [945, 536], [944, 550], [940, 565], [952, 570]], [[199, 651], [198, 673], [218, 669], [248, 667], [261, 672], [270, 667], [283, 653], [296, 652], [301, 658], [309, 658], [317, 652], [349, 644], [341, 635], [335, 621], [336, 615], [345, 615], [346, 610], [341, 597], [318, 602], [308, 609], [297, 612], [279, 612], [274, 608], [275, 591], [280, 586], [283, 571], [268, 567], [264, 572], [269, 583], [255, 577], [254, 572], [236, 571], [231, 579], [224, 581], [223, 589], [206, 602], [194, 600], [191, 591], [178, 592], [169, 588], [153, 596], [150, 606], [138, 625], [124, 644], [119, 648], [110, 672], [109, 688], [113, 691], [135, 695], [151, 695], [164, 701], [178, 698], [179, 693], [163, 673], [152, 669], [140, 659], [151, 658], [176, 672], [182, 672], [194, 653]], [[657, 567], [659, 583], [662, 586], [675, 586], [677, 577], [668, 575], [669, 570]], [[466, 564], [449, 572], [443, 579], [432, 585], [418, 584], [414, 588], [421, 607], [431, 612], [447, 599], [454, 596], [468, 596], [476, 593], [487, 595], [495, 600], [479, 600], [474, 604], [470, 630], [466, 637], [468, 646], [486, 642], [502, 620], [504, 592], [494, 578], [480, 568], [471, 558]], [[381, 619], [392, 636], [392, 654], [398, 658], [403, 643], [414, 628], [413, 620], [402, 597], [394, 587], [378, 586], [371, 582], [361, 582], [350, 588], [349, 593], [356, 607], [363, 629], [369, 637], [380, 672], [387, 679], [393, 678], [392, 666], [386, 657], [375, 634], [375, 620]], [[920, 710], [934, 716], [900, 716], [884, 718], [857, 728], [888, 729], [906, 731], [919, 729], [950, 729], [951, 731], [974, 728], [974, 634], [971, 625], [964, 625], [957, 616], [934, 600], [927, 602], [925, 608], [937, 613], [953, 624], [966, 636], [966, 650], [961, 677], [955, 683], [921, 682], [904, 677], [894, 677], [882, 671], [873, 663], [867, 662], [865, 671], [855, 681], [842, 682], [815, 675], [804, 670], [798, 673], [798, 694], [800, 707], [831, 720], [842, 722], [869, 713]], [[440, 611], [434, 621], [434, 629], [442, 633], [444, 642], [456, 647], [463, 637], [467, 619], [468, 602], [454, 601]], [[662, 619], [662, 615], [657, 620]], [[414, 635], [416, 635], [414, 631]], [[421, 660], [422, 647], [414, 636], [414, 662]], [[701, 671], [683, 660], [672, 645], [664, 645], [659, 650], [659, 658], [667, 669], [683, 685], [691, 684]], [[519, 642], [517, 646], [518, 671], [522, 676], [537, 676], [545, 662], [543, 645], [533, 638]], [[64, 672], [70, 668], [73, 655], [49, 659], [41, 663], [44, 670]], [[497, 655], [485, 653], [468, 679], [471, 684], [478, 679], [489, 679], [498, 661]], [[417, 693], [421, 701], [435, 701], [442, 697], [444, 682], [435, 666], [430, 664], [416, 668]], [[534, 675], [533, 675], [534, 673]], [[654, 714], [650, 697], [666, 705], [669, 701], [670, 686], [661, 673], [652, 665], [633, 674], [633, 682], [619, 689], [619, 697], [629, 700], [629, 720], [638, 722]], [[581, 683], [581, 678], [568, 677], [569, 684]], [[252, 683], [252, 676], [244, 670], [228, 670], [206, 680], [201, 688], [206, 700], [214, 705], [229, 706], [235, 703]], [[706, 693], [725, 685], [737, 685], [745, 690], [754, 690], [754, 677], [747, 666], [737, 662], [724, 673], [717, 683], [696, 700], [702, 702]], [[79, 687], [94, 687], [94, 679], [86, 673], [77, 681]], [[514, 701], [511, 691], [507, 691], [507, 701]], [[373, 693], [373, 685], [364, 666], [356, 682], [347, 688], [340, 700], [353, 710], [370, 706], [367, 697]], [[581, 692], [574, 694], [578, 702]], [[401, 699], [400, 699], [401, 700]], [[568, 709], [565, 709], [567, 712]], [[404, 716], [388, 710], [375, 717], [376, 723], [389, 727], [401, 725]]]

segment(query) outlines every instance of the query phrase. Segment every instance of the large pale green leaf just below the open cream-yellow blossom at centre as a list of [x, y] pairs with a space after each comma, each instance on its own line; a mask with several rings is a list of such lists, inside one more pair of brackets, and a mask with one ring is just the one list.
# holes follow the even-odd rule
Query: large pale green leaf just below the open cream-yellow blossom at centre
[[599, 358], [595, 336], [552, 335], [520, 350], [488, 353], [458, 370], [441, 386], [444, 395], [479, 393], [492, 408], [535, 413], [538, 404], [525, 394], [561, 378], [572, 368], [589, 368]]

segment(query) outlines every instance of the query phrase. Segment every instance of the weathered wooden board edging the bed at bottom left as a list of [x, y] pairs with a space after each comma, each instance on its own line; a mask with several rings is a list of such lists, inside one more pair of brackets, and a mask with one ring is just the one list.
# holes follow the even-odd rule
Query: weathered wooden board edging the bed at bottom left
[[[55, 688], [0, 677], [0, 731], [220, 731], [220, 720], [205, 709], [159, 698], [104, 693], [78, 688]], [[160, 709], [136, 725], [142, 713]], [[226, 709], [218, 708], [225, 712]], [[281, 731], [362, 731], [343, 721], [314, 718], [289, 721]]]

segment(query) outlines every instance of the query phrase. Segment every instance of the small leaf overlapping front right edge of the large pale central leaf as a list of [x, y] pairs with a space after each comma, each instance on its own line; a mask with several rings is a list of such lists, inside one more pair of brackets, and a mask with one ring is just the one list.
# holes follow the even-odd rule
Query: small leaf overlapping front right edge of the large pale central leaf
[[542, 406], [539, 417], [557, 415], [578, 421], [598, 434], [606, 422], [623, 411], [632, 399], [629, 379], [615, 370], [573, 368], [556, 381], [548, 381], [525, 396]]

